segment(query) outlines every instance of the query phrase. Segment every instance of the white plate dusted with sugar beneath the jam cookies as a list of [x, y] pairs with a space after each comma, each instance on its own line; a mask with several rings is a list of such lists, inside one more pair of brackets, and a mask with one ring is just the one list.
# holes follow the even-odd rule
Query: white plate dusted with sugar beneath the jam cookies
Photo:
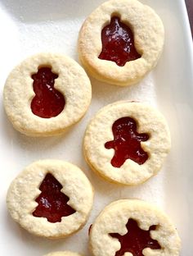
[[[88, 255], [88, 227], [114, 199], [140, 198], [157, 203], [172, 218], [182, 238], [182, 256], [193, 255], [193, 54], [186, 8], [182, 0], [141, 0], [159, 13], [166, 30], [159, 65], [139, 85], [119, 88], [92, 79], [92, 105], [78, 125], [65, 136], [33, 139], [20, 135], [7, 121], [2, 89], [9, 71], [37, 52], [66, 53], [78, 59], [79, 28], [102, 0], [0, 0], [0, 254], [43, 255], [73, 249]], [[168, 119], [173, 147], [158, 176], [136, 188], [110, 185], [90, 171], [82, 154], [83, 132], [100, 107], [119, 99], [140, 99], [159, 107]], [[6, 208], [7, 188], [30, 162], [59, 158], [82, 167], [96, 189], [88, 224], [65, 240], [44, 240], [30, 235], [11, 220]]]

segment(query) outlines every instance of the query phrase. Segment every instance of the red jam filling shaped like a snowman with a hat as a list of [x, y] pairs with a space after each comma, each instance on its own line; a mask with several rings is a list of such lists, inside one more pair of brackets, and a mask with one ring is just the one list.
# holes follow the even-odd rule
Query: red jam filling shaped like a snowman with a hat
[[31, 77], [34, 80], [35, 96], [31, 102], [34, 115], [43, 118], [58, 116], [65, 107], [64, 96], [54, 88], [54, 80], [58, 75], [52, 73], [50, 67], [41, 67]]

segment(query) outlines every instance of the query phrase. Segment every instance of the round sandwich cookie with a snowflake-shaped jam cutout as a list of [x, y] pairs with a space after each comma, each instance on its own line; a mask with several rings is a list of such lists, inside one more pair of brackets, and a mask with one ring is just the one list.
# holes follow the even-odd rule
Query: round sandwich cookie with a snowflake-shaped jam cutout
[[181, 240], [172, 222], [155, 205], [138, 199], [110, 203], [90, 230], [94, 256], [178, 256]]

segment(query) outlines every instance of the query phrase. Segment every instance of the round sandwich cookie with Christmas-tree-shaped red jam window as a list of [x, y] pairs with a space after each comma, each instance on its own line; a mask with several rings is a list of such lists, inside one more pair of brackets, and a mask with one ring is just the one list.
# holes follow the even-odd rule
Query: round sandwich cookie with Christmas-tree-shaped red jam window
[[7, 192], [11, 217], [30, 233], [52, 239], [79, 231], [92, 203], [92, 185], [83, 171], [60, 160], [30, 164]]

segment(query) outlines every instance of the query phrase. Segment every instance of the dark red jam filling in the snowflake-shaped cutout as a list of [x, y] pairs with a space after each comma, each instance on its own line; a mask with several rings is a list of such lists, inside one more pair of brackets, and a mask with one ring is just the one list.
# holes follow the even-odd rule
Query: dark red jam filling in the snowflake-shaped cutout
[[156, 226], [150, 226], [149, 231], [141, 230], [137, 222], [129, 219], [126, 225], [128, 233], [119, 235], [118, 233], [111, 233], [110, 236], [119, 240], [121, 248], [116, 252], [115, 256], [123, 256], [126, 252], [133, 256], [144, 256], [142, 250], [145, 248], [161, 249], [157, 240], [150, 237], [150, 231], [155, 231]]

